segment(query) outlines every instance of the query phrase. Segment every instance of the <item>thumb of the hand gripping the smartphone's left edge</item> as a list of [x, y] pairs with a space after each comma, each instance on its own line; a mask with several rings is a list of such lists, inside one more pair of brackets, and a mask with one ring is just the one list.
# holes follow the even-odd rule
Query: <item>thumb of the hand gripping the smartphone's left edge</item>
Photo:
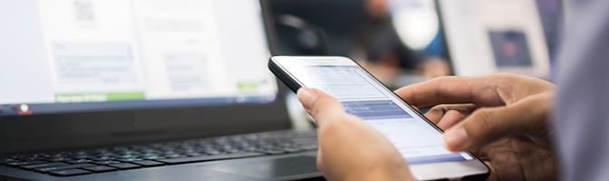
[[297, 91], [297, 94], [298, 100], [313, 117], [317, 126], [324, 124], [323, 119], [333, 119], [346, 113], [338, 100], [322, 90], [303, 87]]

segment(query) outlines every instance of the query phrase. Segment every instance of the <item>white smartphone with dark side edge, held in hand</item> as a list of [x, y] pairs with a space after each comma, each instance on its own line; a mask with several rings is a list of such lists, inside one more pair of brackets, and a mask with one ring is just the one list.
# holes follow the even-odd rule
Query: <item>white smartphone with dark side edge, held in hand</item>
[[441, 129], [349, 58], [274, 56], [268, 67], [291, 90], [324, 90], [348, 113], [379, 130], [418, 180], [483, 180], [490, 173], [471, 153], [444, 148]]

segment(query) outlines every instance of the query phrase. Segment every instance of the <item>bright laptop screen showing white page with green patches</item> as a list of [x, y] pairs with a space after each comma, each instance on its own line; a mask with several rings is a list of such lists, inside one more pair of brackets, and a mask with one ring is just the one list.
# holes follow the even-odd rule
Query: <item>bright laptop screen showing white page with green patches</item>
[[0, 20], [0, 116], [275, 100], [258, 1], [2, 1]]

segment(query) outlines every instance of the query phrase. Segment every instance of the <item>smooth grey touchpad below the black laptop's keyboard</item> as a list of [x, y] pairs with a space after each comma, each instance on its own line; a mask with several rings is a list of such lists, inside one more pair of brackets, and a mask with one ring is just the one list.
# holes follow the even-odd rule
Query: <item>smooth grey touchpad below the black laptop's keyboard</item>
[[317, 173], [315, 157], [297, 156], [275, 159], [233, 162], [210, 167], [216, 171], [253, 176], [259, 178], [278, 178], [284, 176], [312, 175]]

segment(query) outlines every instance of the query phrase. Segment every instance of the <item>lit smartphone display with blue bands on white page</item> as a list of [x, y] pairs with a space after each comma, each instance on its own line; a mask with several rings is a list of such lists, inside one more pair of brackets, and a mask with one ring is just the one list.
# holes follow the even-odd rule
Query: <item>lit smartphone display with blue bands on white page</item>
[[474, 159], [444, 148], [440, 130], [347, 58], [289, 59], [279, 65], [304, 87], [324, 90], [378, 129], [411, 165]]

